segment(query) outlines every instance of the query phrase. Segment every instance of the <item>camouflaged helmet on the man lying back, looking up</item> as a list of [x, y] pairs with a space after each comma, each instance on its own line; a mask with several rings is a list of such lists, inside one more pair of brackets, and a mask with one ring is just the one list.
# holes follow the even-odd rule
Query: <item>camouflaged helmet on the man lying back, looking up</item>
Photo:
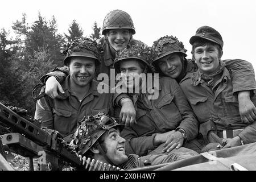
[[75, 150], [79, 154], [84, 155], [97, 142], [101, 135], [113, 127], [122, 131], [125, 126], [101, 112], [97, 115], [84, 117], [79, 122], [79, 127], [77, 127], [75, 137], [70, 145], [75, 147]]

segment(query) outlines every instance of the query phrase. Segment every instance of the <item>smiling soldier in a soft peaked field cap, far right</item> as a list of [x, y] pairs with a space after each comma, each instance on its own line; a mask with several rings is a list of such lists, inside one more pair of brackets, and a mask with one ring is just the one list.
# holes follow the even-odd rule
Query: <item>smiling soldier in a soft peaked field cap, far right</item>
[[[199, 119], [199, 132], [203, 135], [204, 144], [208, 144], [204, 150], [216, 150], [217, 144], [213, 142], [220, 143], [223, 148], [256, 142], [256, 112], [252, 110], [249, 114], [251, 118], [248, 120], [253, 122], [245, 122], [239, 111], [243, 97], [251, 100], [247, 105], [255, 107], [254, 77], [243, 80], [244, 75], [240, 75], [243, 82], [234, 81], [229, 69], [221, 61], [223, 40], [214, 28], [198, 28], [189, 42], [199, 69], [195, 73], [188, 73], [180, 85]], [[240, 89], [249, 91], [242, 95], [234, 94], [234, 90]]]

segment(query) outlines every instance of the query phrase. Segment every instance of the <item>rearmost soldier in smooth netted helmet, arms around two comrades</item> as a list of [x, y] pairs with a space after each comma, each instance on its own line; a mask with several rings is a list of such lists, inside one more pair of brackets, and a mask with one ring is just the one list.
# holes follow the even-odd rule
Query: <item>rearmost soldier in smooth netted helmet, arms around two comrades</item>
[[[101, 65], [98, 72], [106, 73], [110, 78], [110, 69], [113, 68], [115, 53], [121, 48], [126, 47], [127, 44], [135, 45], [141, 43], [141, 41], [133, 39], [133, 34], [135, 34], [133, 20], [129, 14], [122, 10], [110, 11], [106, 15], [102, 26], [102, 34], [104, 37], [97, 40], [98, 45], [104, 49], [104, 55], [100, 59]], [[40, 78], [42, 82], [46, 83], [46, 94], [49, 97], [60, 97], [59, 93], [63, 93], [63, 88], [61, 88], [59, 82], [63, 82], [68, 74], [67, 67], [62, 67], [56, 68], [53, 72], [47, 73]], [[111, 82], [111, 80], [109, 81]], [[127, 126], [133, 125], [136, 122], [133, 104], [129, 99], [123, 99], [121, 104], [120, 120], [126, 123]]]

